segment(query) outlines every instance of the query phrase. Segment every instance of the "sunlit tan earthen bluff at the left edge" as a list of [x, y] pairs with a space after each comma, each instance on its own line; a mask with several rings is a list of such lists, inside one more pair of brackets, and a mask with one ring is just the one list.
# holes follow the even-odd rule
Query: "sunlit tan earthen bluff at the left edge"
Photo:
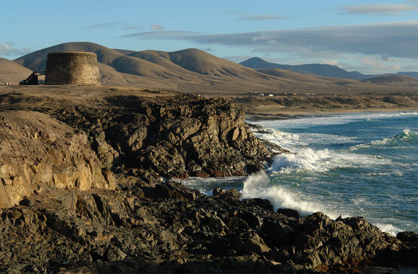
[[16, 205], [44, 184], [57, 188], [116, 188], [87, 136], [40, 112], [0, 112], [0, 208]]

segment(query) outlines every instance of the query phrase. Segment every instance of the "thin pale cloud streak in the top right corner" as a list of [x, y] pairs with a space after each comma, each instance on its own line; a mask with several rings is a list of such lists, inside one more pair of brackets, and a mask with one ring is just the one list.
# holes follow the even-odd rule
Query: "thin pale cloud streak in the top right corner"
[[[418, 2], [418, 1], [417, 1]], [[341, 14], [378, 14], [402, 15], [405, 12], [418, 10], [417, 5], [377, 4], [377, 5], [347, 5], [339, 9]]]

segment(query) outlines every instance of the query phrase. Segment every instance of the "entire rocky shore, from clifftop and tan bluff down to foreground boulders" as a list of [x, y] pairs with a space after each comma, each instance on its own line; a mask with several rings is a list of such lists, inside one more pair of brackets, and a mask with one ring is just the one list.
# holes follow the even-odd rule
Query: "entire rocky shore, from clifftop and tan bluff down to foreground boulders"
[[246, 175], [280, 147], [231, 101], [6, 90], [0, 95], [1, 273], [354, 273], [417, 266], [418, 236], [361, 217], [274, 211], [173, 178]]

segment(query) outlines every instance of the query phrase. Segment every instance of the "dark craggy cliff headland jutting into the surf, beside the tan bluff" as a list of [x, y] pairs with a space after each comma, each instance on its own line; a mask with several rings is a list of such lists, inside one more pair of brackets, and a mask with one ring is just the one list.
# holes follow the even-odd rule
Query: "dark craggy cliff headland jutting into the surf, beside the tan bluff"
[[263, 169], [273, 155], [232, 101], [196, 95], [105, 99], [105, 110], [90, 105], [51, 112], [85, 131], [105, 166], [151, 169], [164, 177], [225, 177]]

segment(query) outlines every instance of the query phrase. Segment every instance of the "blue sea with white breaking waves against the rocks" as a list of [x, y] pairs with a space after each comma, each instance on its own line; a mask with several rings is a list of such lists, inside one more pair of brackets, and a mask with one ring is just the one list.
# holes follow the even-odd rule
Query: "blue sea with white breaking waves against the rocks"
[[395, 236], [418, 232], [418, 112], [306, 116], [258, 121], [254, 134], [293, 153], [249, 177], [185, 180], [210, 195], [237, 188], [302, 215], [363, 216]]

